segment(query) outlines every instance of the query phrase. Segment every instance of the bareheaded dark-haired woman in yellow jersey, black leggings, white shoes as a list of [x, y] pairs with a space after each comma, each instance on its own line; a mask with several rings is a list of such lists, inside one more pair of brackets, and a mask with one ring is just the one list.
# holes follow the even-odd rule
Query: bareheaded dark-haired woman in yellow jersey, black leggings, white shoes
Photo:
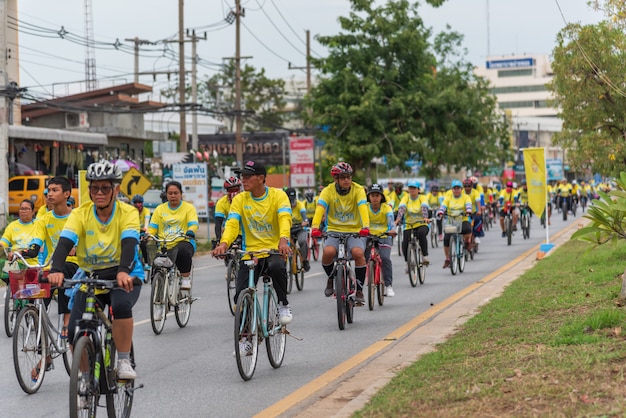
[[154, 210], [148, 234], [160, 238], [179, 235], [167, 243], [167, 253], [178, 267], [181, 275], [181, 290], [191, 289], [191, 258], [196, 251], [196, 231], [198, 230], [198, 214], [196, 208], [183, 201], [183, 186], [177, 181], [170, 181], [165, 186], [167, 203], [162, 203]]

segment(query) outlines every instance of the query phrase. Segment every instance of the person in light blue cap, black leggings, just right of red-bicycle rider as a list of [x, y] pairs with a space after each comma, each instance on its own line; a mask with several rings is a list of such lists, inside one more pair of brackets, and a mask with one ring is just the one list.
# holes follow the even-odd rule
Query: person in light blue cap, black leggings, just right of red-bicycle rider
[[[430, 264], [428, 259], [428, 200], [426, 196], [420, 194], [421, 183], [415, 179], [408, 182], [409, 192], [402, 198], [398, 206], [398, 215], [396, 216], [396, 225], [402, 221], [404, 217], [404, 236], [402, 237], [402, 254], [404, 261], [407, 261], [407, 249], [411, 239], [411, 230], [415, 230], [417, 239], [424, 255], [423, 262], [425, 265]], [[407, 269], [408, 273], [408, 269]]]

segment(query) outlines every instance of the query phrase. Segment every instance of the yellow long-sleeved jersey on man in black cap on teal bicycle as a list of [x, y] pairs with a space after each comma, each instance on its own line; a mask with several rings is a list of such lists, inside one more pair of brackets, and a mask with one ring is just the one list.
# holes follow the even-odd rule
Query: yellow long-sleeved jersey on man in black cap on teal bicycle
[[280, 189], [265, 187], [265, 194], [253, 197], [250, 192], [233, 198], [221, 242], [230, 244], [242, 237], [244, 251], [277, 249], [280, 238], [291, 235], [291, 205]]

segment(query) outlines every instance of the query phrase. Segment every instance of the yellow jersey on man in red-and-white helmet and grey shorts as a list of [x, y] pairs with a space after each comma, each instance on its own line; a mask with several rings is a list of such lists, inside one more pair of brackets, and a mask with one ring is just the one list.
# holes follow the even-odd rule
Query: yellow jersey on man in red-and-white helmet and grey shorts
[[326, 186], [317, 201], [313, 228], [319, 228], [324, 214], [326, 214], [328, 231], [356, 233], [361, 228], [369, 228], [367, 198], [363, 186], [352, 182], [350, 191], [346, 195], [337, 193], [335, 183]]

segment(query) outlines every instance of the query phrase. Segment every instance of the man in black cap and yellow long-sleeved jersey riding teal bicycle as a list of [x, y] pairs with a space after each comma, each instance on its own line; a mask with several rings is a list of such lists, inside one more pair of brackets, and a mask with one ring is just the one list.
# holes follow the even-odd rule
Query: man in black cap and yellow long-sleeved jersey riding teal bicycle
[[[279, 320], [286, 325], [293, 319], [287, 300], [285, 268], [285, 257], [291, 254], [289, 249], [291, 205], [285, 192], [265, 185], [266, 176], [267, 171], [263, 165], [255, 161], [247, 161], [244, 164], [241, 169], [244, 191], [233, 198], [222, 240], [212, 255], [214, 257], [223, 255], [238, 235], [242, 236], [244, 251], [278, 249], [280, 254], [258, 256], [259, 262], [254, 267], [254, 275], [258, 279], [261, 271], [269, 271], [279, 301]], [[248, 269], [244, 268], [243, 261], [240, 265], [235, 302], [239, 293], [248, 286]]]

